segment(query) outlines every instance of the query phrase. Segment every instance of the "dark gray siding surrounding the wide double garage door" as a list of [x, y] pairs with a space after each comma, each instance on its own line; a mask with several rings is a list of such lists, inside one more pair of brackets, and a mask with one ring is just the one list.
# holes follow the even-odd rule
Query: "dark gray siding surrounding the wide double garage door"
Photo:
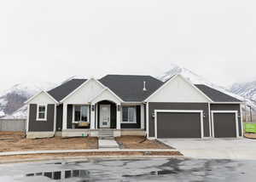
[[204, 137], [210, 136], [209, 110], [207, 103], [148, 103], [149, 137], [154, 137], [154, 117], [152, 117], [154, 110], [202, 110], [204, 111]]

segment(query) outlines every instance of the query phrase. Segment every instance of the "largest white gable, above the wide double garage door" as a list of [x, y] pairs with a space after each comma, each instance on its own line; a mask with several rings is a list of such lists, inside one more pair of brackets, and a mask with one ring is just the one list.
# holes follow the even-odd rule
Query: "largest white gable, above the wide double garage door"
[[177, 75], [147, 99], [148, 102], [210, 102], [204, 94], [183, 77]]

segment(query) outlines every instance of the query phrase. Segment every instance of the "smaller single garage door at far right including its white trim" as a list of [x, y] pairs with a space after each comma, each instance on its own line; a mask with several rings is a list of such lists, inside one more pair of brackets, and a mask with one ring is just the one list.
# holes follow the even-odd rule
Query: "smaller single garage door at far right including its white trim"
[[212, 137], [238, 137], [237, 111], [212, 111]]

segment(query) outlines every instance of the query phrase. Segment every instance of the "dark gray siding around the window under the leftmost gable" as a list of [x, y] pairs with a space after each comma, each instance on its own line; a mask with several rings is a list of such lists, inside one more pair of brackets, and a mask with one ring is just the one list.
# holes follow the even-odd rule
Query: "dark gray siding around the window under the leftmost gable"
[[37, 105], [29, 105], [29, 128], [30, 132], [49, 132], [54, 130], [55, 105], [47, 106], [47, 120], [37, 121]]

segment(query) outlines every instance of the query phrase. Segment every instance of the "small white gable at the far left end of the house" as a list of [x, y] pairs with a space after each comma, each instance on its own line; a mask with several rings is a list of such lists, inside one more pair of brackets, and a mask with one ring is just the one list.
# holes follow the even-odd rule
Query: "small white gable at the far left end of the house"
[[49, 105], [56, 104], [56, 102], [50, 98], [49, 94], [42, 91], [41, 93], [33, 96], [30, 100], [26, 101], [26, 104]]

